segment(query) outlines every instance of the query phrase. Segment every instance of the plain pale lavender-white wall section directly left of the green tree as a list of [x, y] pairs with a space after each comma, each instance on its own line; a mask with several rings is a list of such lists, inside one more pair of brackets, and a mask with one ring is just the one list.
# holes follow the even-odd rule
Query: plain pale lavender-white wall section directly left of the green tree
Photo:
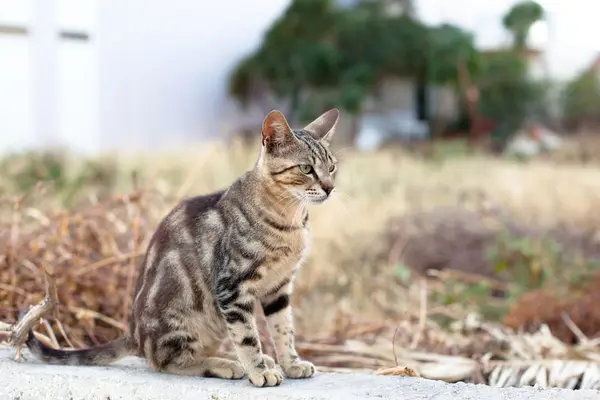
[[102, 0], [102, 144], [175, 146], [217, 135], [226, 79], [286, 0]]

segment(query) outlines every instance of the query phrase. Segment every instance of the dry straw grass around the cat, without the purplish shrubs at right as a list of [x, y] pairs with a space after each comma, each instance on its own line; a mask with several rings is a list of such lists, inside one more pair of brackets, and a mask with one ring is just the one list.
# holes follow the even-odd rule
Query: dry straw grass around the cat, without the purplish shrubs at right
[[[103, 159], [117, 172], [114, 186], [82, 189], [70, 197], [68, 212], [61, 210], [63, 198], [52, 185], [20, 198], [8, 181], [2, 183], [0, 320], [12, 323], [18, 312], [42, 299], [40, 268], [46, 262], [57, 279], [60, 317], [53, 329], [41, 332], [56, 336], [60, 346], [75, 347], [120, 334], [135, 267], [158, 219], [184, 196], [228, 185], [252, 166], [255, 150], [215, 144], [171, 154], [111, 154]], [[381, 259], [391, 218], [453, 209], [471, 198], [466, 194], [485, 193], [524, 226], [551, 229], [563, 222], [586, 232], [600, 226], [596, 167], [484, 156], [430, 163], [393, 149], [376, 154], [342, 149], [338, 155], [338, 193], [312, 210], [312, 251], [293, 299], [299, 350], [319, 365], [377, 369], [422, 358], [406, 350], [481, 359], [511, 338], [506, 333], [499, 340], [481, 329], [442, 330], [434, 316], [461, 321], [465, 314], [428, 300], [436, 282], [398, 276], [404, 243], [398, 257]], [[81, 165], [73, 160], [69, 171]], [[460, 379], [476, 381], [469, 375], [476, 370], [465, 368]], [[426, 369], [417, 363], [422, 375], [428, 375]], [[480, 380], [489, 374], [481, 371]]]

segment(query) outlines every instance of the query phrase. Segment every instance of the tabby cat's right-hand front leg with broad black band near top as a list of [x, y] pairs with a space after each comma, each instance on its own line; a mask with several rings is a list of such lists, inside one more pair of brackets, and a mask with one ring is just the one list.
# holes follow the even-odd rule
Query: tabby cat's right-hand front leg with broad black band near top
[[290, 293], [291, 283], [288, 283], [277, 293], [263, 299], [261, 304], [275, 342], [277, 361], [286, 376], [293, 379], [310, 378], [317, 369], [311, 362], [301, 360], [296, 352]]

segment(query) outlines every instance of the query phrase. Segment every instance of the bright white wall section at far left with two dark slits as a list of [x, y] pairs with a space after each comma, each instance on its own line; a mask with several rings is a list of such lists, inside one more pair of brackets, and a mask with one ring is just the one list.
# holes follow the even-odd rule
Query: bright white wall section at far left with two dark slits
[[58, 31], [95, 34], [98, 0], [3, 0], [0, 23], [0, 151], [62, 145], [93, 151], [98, 139], [94, 41], [62, 41]]

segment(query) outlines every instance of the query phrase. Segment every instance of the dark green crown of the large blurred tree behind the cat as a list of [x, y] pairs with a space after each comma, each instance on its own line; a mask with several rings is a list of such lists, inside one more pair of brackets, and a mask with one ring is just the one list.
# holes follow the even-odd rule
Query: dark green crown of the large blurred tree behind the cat
[[292, 1], [260, 48], [234, 69], [230, 94], [246, 105], [272, 93], [289, 102], [292, 119], [333, 106], [356, 114], [386, 78], [446, 83], [456, 81], [458, 62], [476, 67], [470, 33], [423, 24], [407, 0], [400, 3], [409, 12], [389, 13], [390, 3], [363, 0], [342, 8], [331, 0]]

